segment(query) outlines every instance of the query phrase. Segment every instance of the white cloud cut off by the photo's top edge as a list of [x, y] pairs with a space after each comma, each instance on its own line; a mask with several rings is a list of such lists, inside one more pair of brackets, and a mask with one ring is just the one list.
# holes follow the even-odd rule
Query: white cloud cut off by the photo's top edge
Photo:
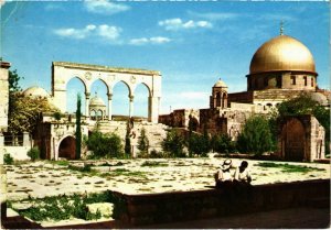
[[86, 0], [84, 6], [88, 12], [115, 14], [130, 9], [126, 4], [114, 3], [108, 0]]

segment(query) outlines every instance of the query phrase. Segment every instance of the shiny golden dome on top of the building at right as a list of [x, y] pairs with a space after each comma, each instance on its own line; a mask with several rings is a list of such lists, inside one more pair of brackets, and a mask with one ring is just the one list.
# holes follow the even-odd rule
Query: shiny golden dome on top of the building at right
[[310, 51], [298, 40], [279, 35], [264, 43], [254, 54], [249, 74], [298, 70], [317, 75]]

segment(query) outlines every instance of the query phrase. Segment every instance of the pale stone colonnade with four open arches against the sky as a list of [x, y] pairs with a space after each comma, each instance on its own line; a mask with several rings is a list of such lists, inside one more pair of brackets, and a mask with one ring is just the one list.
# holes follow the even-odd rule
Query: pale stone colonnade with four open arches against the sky
[[117, 68], [66, 62], [52, 63], [52, 96], [54, 105], [66, 111], [66, 85], [77, 77], [85, 88], [85, 114], [88, 116], [90, 88], [94, 81], [102, 80], [107, 87], [108, 120], [111, 120], [113, 88], [122, 81], [129, 89], [129, 117], [134, 116], [135, 89], [143, 84], [149, 91], [148, 121], [158, 123], [161, 98], [161, 74], [156, 70]]

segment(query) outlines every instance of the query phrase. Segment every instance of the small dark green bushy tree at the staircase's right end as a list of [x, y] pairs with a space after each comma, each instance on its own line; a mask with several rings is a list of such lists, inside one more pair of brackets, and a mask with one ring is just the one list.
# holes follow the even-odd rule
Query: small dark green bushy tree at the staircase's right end
[[175, 130], [167, 133], [167, 138], [162, 142], [162, 149], [172, 157], [184, 157], [184, 141]]

